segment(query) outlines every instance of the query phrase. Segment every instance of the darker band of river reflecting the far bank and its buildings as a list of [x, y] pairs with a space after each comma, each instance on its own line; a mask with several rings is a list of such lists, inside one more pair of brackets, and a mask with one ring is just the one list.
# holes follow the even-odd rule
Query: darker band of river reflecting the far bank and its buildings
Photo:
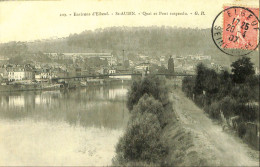
[[0, 94], [0, 118], [65, 121], [72, 125], [125, 127], [128, 86]]

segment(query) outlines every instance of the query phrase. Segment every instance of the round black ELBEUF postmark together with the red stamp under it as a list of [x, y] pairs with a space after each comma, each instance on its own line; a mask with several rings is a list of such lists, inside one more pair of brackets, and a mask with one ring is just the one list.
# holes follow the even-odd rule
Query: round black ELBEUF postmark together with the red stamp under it
[[211, 27], [215, 45], [231, 56], [248, 55], [259, 45], [259, 9], [224, 7]]

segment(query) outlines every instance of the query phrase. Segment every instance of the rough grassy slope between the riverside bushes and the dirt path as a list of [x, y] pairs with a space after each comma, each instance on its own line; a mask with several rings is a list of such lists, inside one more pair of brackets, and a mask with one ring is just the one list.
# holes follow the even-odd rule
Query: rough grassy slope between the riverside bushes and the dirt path
[[185, 129], [176, 111], [168, 115], [168, 125], [164, 128], [162, 140], [167, 143], [168, 155], [165, 164], [169, 166], [207, 166], [207, 157], [197, 151], [191, 131]]

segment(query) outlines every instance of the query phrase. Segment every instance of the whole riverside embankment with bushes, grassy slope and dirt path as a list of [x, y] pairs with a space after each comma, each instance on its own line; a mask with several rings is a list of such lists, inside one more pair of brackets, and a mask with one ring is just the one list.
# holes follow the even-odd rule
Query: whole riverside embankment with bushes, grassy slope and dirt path
[[156, 78], [132, 85], [132, 117], [117, 145], [114, 165], [258, 166], [259, 152], [223, 131], [180, 88], [163, 86], [165, 81]]

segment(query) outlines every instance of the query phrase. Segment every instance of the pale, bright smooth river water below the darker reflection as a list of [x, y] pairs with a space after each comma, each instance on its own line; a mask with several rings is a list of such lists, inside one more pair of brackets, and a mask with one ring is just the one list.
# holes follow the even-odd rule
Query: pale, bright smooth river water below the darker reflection
[[0, 166], [109, 166], [122, 130], [1, 120]]

